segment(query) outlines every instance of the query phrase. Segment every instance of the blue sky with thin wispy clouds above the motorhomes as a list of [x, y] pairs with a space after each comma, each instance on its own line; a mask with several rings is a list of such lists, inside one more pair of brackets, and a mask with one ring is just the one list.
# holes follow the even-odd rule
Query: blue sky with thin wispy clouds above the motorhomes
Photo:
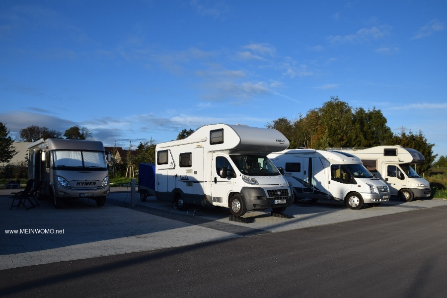
[[3, 0], [0, 122], [127, 149], [338, 96], [447, 155], [446, 18], [444, 0]]

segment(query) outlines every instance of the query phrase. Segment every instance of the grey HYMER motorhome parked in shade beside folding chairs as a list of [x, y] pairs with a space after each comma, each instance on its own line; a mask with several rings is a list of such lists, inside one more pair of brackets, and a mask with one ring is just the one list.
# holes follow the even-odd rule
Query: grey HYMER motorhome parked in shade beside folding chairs
[[104, 146], [99, 141], [40, 139], [28, 146], [28, 179], [56, 208], [77, 198], [104, 206], [110, 190]]

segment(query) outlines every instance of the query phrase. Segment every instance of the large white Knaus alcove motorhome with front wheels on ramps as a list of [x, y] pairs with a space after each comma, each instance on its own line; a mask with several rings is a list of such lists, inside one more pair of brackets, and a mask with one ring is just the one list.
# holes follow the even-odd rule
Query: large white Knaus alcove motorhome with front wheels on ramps
[[273, 129], [213, 124], [155, 148], [155, 197], [185, 210], [219, 206], [234, 216], [247, 210], [283, 212], [293, 204], [289, 183], [266, 157], [289, 141]]

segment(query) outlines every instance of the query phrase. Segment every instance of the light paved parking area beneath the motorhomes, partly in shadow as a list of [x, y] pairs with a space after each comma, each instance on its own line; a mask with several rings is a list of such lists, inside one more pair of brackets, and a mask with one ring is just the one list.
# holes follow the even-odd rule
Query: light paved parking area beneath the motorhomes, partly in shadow
[[438, 199], [408, 203], [392, 200], [380, 207], [350, 210], [342, 203], [300, 201], [286, 210], [289, 218], [272, 217], [267, 210], [247, 212], [244, 219], [250, 223], [239, 223], [229, 220], [229, 210], [225, 208], [192, 208], [182, 212], [154, 197], [141, 202], [138, 193], [132, 207], [128, 188], [113, 189], [104, 207], [83, 199], [72, 201], [63, 209], [55, 209], [49, 201], [40, 201], [35, 209], [9, 210], [12, 200], [9, 192], [0, 190], [0, 270], [178, 247], [447, 205], [447, 201]]

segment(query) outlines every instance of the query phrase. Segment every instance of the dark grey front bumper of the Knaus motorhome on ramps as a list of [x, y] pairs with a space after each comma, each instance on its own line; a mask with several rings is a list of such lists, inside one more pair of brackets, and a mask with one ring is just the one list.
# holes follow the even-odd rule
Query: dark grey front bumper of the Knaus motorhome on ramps
[[[269, 196], [268, 193], [274, 193], [274, 196]], [[294, 197], [291, 195], [291, 190], [287, 186], [274, 190], [264, 190], [261, 187], [243, 187], [241, 194], [245, 199], [248, 210], [289, 207], [294, 203]]]

